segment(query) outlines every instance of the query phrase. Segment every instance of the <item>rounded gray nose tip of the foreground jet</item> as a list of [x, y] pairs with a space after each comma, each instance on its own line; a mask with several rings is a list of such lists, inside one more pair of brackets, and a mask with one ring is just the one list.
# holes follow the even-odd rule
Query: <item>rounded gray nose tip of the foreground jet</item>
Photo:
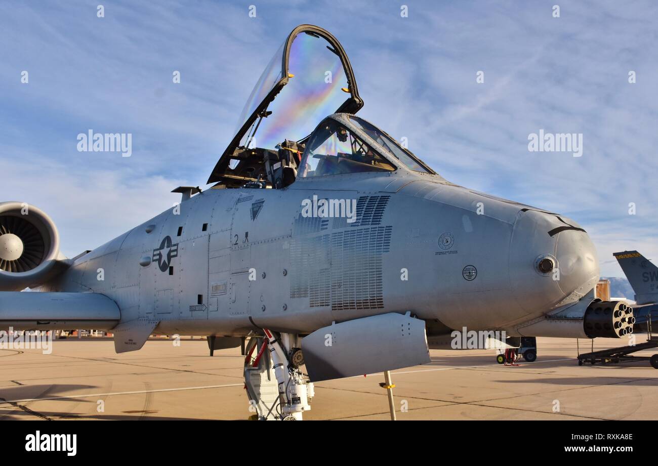
[[510, 249], [512, 289], [528, 314], [578, 301], [599, 280], [588, 234], [565, 217], [520, 211]]

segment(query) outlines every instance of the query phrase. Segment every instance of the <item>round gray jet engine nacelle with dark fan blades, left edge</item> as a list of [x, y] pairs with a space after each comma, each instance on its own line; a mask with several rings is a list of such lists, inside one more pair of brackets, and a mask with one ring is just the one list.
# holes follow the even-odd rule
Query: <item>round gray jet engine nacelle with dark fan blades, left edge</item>
[[50, 217], [26, 203], [0, 203], [0, 290], [46, 282], [58, 256], [59, 234]]

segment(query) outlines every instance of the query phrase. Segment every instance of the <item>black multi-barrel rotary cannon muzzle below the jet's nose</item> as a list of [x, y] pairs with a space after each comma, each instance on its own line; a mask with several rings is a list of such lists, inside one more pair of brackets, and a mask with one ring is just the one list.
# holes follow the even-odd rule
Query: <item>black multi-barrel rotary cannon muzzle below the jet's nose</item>
[[633, 332], [633, 309], [624, 301], [595, 299], [585, 311], [584, 328], [590, 338], [621, 338]]

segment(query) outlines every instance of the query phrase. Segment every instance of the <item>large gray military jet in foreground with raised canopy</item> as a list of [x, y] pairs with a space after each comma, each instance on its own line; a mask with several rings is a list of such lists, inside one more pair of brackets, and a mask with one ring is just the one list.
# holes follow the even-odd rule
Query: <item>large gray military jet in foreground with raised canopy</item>
[[[208, 184], [66, 259], [40, 209], [0, 204], [0, 326], [111, 330], [245, 348], [260, 419], [301, 419], [312, 382], [430, 362], [453, 330], [621, 336], [594, 299], [594, 245], [573, 220], [445, 180], [374, 124], [332, 34], [295, 28]], [[20, 292], [25, 287], [38, 292]], [[305, 373], [301, 367], [305, 368]]]

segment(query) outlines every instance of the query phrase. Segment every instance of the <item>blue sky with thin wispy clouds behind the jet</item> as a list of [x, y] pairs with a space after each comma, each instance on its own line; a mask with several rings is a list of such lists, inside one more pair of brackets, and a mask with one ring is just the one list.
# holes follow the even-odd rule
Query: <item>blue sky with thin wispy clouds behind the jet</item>
[[[347, 51], [359, 115], [447, 180], [576, 220], [602, 276], [623, 276], [615, 251], [658, 257], [650, 0], [3, 0], [0, 200], [47, 212], [73, 257], [204, 188], [303, 23]], [[132, 134], [132, 155], [78, 151], [89, 130]], [[582, 156], [529, 151], [540, 130], [582, 134]]]

